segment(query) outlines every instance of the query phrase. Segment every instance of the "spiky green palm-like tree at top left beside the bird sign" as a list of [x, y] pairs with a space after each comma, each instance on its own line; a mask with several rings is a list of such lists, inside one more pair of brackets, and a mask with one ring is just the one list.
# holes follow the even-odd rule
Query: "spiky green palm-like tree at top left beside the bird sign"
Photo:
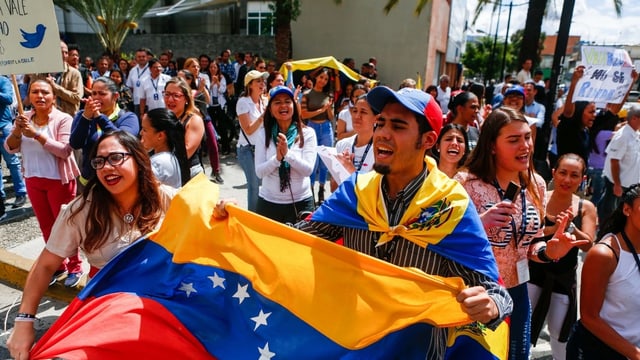
[[129, 30], [157, 0], [53, 0], [65, 11], [75, 10], [95, 31], [105, 51], [119, 55]]

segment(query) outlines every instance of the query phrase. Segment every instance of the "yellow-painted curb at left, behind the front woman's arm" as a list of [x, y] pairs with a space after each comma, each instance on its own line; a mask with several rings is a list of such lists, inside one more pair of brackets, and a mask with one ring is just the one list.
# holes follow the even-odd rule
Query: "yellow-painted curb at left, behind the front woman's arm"
[[[24, 284], [27, 281], [27, 275], [33, 263], [33, 260], [0, 249], [0, 281], [17, 290], [23, 290]], [[86, 277], [83, 277], [80, 284], [72, 289], [65, 287], [63, 284], [56, 283], [49, 286], [44, 296], [70, 303], [84, 288], [86, 282]]]

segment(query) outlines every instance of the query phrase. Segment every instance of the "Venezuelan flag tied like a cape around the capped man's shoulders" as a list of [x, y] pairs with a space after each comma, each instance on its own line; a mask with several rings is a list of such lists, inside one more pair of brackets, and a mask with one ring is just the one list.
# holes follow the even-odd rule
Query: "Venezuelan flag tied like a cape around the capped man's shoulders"
[[[390, 226], [387, 222], [382, 176], [375, 172], [353, 174], [313, 213], [311, 220], [381, 232], [378, 244], [399, 235], [501, 282], [484, 227], [467, 192], [438, 170], [431, 157], [425, 156], [425, 163], [427, 179], [399, 225]], [[451, 328], [446, 357], [506, 358], [508, 326], [503, 322], [495, 331], [478, 323]]]

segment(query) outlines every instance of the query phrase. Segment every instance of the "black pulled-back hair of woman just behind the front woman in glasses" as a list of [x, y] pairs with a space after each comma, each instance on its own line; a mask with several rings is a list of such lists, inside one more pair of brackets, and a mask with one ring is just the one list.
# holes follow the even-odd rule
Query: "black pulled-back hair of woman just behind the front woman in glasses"
[[164, 131], [167, 135], [167, 145], [178, 159], [180, 164], [180, 178], [182, 186], [190, 179], [189, 160], [187, 159], [187, 146], [184, 143], [184, 126], [176, 115], [166, 108], [157, 108], [147, 112], [151, 126], [157, 131]]

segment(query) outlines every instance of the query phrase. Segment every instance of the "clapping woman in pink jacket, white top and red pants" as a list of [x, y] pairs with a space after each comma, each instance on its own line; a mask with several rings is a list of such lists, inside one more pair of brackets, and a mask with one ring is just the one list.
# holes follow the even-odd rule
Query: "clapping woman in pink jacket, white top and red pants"
[[[29, 100], [33, 110], [18, 115], [4, 147], [9, 153], [22, 153], [27, 195], [47, 243], [60, 207], [76, 197], [76, 176], [80, 170], [69, 145], [73, 120], [56, 109], [51, 84], [45, 80], [32, 82]], [[54, 270], [56, 276], [50, 278], [51, 283], [68, 273], [65, 285], [78, 285], [82, 276], [78, 252], [63, 259]]]

